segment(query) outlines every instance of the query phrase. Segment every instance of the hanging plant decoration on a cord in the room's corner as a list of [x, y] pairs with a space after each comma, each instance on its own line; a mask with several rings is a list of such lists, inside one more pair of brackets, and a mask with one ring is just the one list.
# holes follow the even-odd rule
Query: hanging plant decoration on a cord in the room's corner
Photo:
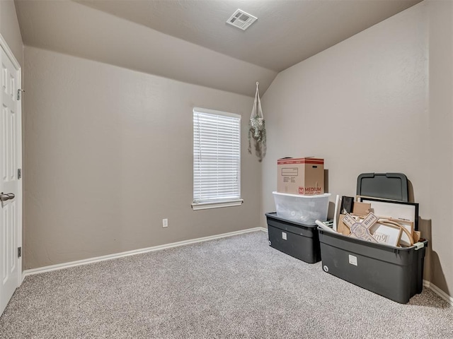
[[266, 129], [261, 109], [260, 93], [258, 92], [258, 81], [256, 82], [255, 101], [253, 102], [252, 114], [248, 122], [248, 153], [252, 154], [252, 140], [255, 147], [255, 154], [258, 161], [263, 161], [266, 155]]

